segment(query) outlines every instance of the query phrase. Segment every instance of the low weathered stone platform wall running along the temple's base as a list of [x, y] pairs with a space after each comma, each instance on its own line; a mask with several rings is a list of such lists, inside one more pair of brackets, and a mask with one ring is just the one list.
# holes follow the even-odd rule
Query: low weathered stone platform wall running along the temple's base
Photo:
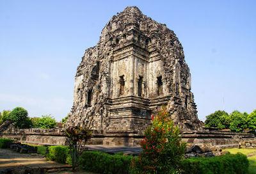
[[[256, 139], [253, 134], [219, 132], [219, 131], [191, 131], [182, 132], [182, 141], [187, 146], [198, 145], [200, 148], [255, 148]], [[10, 125], [0, 132], [1, 138], [17, 139], [23, 143], [35, 145], [67, 145], [64, 129], [14, 129]], [[140, 146], [144, 138], [138, 131], [93, 131], [88, 145], [111, 146]]]

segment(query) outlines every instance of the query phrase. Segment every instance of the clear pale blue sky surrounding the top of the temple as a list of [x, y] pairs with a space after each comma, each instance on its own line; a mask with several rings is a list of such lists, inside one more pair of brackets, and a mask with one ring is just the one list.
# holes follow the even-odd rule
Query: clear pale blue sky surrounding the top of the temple
[[85, 49], [126, 6], [172, 29], [184, 47], [198, 118], [256, 109], [256, 1], [0, 1], [0, 111], [67, 116]]

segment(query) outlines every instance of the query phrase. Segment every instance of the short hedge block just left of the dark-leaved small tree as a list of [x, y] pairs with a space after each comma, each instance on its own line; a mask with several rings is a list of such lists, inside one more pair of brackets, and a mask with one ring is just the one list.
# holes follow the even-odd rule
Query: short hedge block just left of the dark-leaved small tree
[[60, 163], [68, 162], [68, 147], [66, 146], [49, 146], [46, 159]]

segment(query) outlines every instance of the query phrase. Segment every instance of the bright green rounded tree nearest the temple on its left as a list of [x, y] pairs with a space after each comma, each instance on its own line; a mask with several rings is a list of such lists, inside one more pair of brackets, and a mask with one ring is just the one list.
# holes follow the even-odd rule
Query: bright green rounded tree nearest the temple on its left
[[41, 129], [52, 129], [56, 127], [56, 120], [51, 115], [42, 115], [42, 118], [36, 118], [34, 126]]

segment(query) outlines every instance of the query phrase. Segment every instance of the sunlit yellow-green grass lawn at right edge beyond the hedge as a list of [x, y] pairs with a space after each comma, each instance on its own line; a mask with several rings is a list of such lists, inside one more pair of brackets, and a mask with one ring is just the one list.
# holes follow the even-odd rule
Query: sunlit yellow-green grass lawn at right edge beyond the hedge
[[[225, 149], [230, 154], [236, 154], [237, 152], [240, 152], [241, 154], [248, 155], [256, 152], [256, 149], [250, 149], [250, 148], [227, 148]], [[249, 174], [255, 174], [256, 173], [256, 156], [248, 157], [249, 160]]]

